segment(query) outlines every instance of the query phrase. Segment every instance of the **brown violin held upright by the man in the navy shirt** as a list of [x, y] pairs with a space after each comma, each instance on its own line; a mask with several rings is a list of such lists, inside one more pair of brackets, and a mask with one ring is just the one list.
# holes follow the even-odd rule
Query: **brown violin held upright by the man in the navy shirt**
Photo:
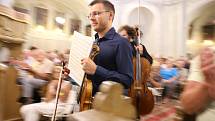
[[[99, 51], [100, 49], [98, 44], [96, 42], [93, 43], [92, 50], [90, 53], [90, 59], [94, 60]], [[85, 74], [78, 97], [78, 102], [80, 102], [80, 111], [89, 110], [92, 108], [92, 90], [92, 81], [87, 79], [87, 75]]]

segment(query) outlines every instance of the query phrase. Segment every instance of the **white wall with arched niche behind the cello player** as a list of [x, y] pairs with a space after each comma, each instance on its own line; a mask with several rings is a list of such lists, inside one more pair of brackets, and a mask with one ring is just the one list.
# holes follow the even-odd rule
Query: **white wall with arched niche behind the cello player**
[[187, 53], [189, 23], [199, 9], [215, 0], [111, 0], [116, 7], [114, 26], [137, 22], [137, 8], [144, 43], [152, 55], [180, 57]]

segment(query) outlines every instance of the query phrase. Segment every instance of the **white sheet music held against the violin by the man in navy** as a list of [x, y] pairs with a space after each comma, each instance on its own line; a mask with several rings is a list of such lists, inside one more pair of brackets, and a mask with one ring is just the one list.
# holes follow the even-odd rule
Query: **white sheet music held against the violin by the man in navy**
[[74, 32], [71, 42], [68, 68], [70, 69], [70, 77], [80, 86], [85, 74], [82, 70], [81, 59], [89, 57], [93, 42], [94, 40], [92, 37]]

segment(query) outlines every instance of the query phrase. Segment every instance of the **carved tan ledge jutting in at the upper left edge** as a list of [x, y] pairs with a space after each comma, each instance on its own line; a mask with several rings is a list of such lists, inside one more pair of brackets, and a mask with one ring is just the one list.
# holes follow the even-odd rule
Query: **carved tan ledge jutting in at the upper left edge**
[[0, 41], [4, 43], [23, 43], [30, 17], [0, 5]]

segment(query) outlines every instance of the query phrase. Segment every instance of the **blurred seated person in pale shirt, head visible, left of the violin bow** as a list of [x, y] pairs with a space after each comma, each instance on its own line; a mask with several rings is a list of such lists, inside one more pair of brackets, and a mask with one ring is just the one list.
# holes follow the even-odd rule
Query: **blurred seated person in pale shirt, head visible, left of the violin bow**
[[32, 103], [33, 90], [48, 82], [54, 63], [46, 58], [44, 51], [36, 49], [30, 57], [23, 61], [16, 61], [15, 65], [20, 70], [17, 79], [18, 83], [22, 85], [20, 102]]

